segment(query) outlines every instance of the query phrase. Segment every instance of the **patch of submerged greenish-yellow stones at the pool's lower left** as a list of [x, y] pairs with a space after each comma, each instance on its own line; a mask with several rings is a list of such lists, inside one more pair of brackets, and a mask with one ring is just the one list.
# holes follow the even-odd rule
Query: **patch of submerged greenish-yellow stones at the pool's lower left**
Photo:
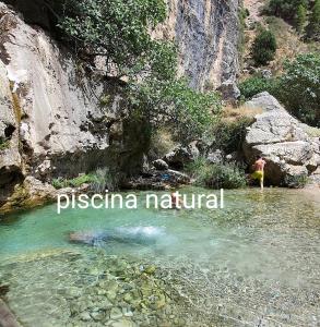
[[[46, 271], [42, 277], [36, 272], [39, 266]], [[17, 284], [14, 277], [22, 270], [25, 286]], [[2, 266], [1, 271], [1, 279], [12, 288], [4, 299], [26, 326], [39, 324], [38, 319], [68, 327], [188, 325], [190, 313], [167, 282], [167, 271], [146, 262], [98, 251], [90, 257], [66, 252]], [[29, 296], [31, 305], [25, 306], [24, 299]], [[46, 306], [44, 301], [49, 298]]]

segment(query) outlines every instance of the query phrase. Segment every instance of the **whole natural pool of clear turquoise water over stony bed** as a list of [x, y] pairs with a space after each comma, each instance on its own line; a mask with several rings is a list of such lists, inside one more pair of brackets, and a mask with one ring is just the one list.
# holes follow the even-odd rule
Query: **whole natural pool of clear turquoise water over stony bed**
[[[24, 326], [320, 326], [319, 202], [254, 189], [178, 211], [137, 195], [137, 210], [49, 205], [0, 220], [0, 283]], [[117, 238], [90, 246], [70, 231]]]

